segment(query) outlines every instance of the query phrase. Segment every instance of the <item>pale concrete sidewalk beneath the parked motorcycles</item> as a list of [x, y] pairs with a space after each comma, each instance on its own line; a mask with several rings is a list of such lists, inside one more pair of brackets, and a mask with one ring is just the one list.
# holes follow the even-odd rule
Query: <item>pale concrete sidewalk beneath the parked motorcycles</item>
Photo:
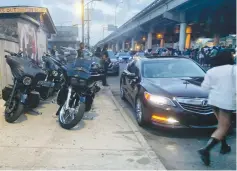
[[132, 121], [102, 89], [94, 108], [73, 130], [62, 129], [57, 105], [43, 104], [43, 115], [26, 114], [8, 124], [0, 106], [0, 169], [164, 170]]

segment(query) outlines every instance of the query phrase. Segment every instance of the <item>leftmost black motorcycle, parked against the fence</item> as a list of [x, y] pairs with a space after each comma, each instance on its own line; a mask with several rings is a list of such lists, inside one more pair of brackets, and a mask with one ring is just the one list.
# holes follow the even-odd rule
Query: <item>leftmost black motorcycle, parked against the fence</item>
[[30, 60], [22, 56], [22, 52], [13, 53], [5, 50], [6, 62], [11, 68], [13, 86], [6, 86], [2, 90], [5, 103], [5, 120], [15, 122], [26, 107], [36, 108], [40, 102], [40, 94], [35, 91], [39, 81], [45, 79], [45, 73]]

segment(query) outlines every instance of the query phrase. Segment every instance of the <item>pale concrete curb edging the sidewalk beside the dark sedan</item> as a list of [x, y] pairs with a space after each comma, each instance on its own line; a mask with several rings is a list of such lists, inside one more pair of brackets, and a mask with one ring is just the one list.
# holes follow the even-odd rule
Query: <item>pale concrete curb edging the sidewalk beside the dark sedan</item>
[[137, 140], [143, 147], [144, 151], [147, 153], [148, 157], [150, 158], [152, 164], [155, 166], [156, 170], [167, 170], [165, 166], [162, 164], [162, 162], [157, 157], [155, 151], [150, 147], [142, 133], [139, 131], [137, 126], [132, 122], [132, 120], [127, 116], [124, 109], [121, 107], [119, 102], [115, 99], [114, 95], [112, 94], [111, 89], [109, 89], [109, 94], [116, 105], [116, 107], [119, 109], [121, 115], [123, 116], [124, 120], [127, 122], [128, 126], [132, 129], [133, 133], [135, 134]]

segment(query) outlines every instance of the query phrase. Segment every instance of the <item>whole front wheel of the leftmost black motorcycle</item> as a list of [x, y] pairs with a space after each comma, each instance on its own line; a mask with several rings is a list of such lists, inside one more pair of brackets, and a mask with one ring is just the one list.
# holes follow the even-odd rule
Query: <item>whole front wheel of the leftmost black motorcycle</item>
[[21, 114], [24, 112], [24, 105], [14, 99], [10, 104], [8, 104], [5, 108], [5, 120], [8, 123], [15, 122]]

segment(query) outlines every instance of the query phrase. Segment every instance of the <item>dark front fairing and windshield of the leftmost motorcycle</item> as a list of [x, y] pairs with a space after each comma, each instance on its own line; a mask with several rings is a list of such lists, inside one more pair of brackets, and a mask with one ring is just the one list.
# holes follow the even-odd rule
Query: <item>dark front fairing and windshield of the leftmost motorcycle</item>
[[42, 72], [39, 67], [34, 65], [29, 59], [26, 58], [8, 56], [6, 61], [11, 68], [12, 75], [15, 78], [20, 78], [24, 75], [35, 77], [37, 73]]

